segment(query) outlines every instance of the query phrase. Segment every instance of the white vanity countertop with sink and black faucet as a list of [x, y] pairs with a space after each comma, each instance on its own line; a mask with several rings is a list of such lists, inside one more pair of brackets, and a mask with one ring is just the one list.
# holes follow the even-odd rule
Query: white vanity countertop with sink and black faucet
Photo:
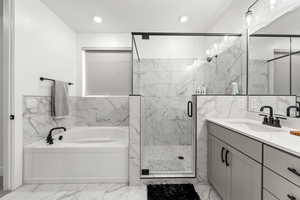
[[[208, 118], [209, 122], [213, 122], [220, 126], [223, 126], [232, 131], [238, 132], [242, 135], [248, 136], [255, 140], [258, 140], [262, 143], [268, 144], [270, 146], [279, 148], [283, 151], [289, 152], [296, 156], [300, 156], [300, 137], [290, 134], [292, 128], [272, 128], [270, 127], [267, 131], [254, 131], [243, 123], [251, 123], [259, 126], [262, 125], [261, 122], [251, 120], [251, 119], [217, 119], [217, 118]], [[241, 123], [236, 123], [241, 122]]]

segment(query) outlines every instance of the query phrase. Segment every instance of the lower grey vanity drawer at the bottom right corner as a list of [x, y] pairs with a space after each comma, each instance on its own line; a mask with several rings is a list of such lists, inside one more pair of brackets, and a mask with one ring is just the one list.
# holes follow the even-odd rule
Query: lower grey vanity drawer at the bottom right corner
[[300, 187], [264, 167], [264, 188], [280, 200], [300, 199]]

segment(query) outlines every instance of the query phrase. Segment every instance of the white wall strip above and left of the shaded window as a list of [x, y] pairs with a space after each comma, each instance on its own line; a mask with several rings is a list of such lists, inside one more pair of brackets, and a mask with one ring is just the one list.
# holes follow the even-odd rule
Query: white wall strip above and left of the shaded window
[[82, 95], [83, 76], [83, 48], [131, 48], [130, 33], [100, 33], [100, 34], [78, 34], [77, 35], [77, 75], [76, 75], [76, 95]]

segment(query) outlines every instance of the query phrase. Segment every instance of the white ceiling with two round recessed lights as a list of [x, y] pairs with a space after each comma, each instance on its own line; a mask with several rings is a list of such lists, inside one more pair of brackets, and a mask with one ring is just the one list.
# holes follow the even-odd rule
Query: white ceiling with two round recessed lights
[[[232, 0], [41, 0], [79, 33], [205, 32]], [[96, 24], [93, 16], [101, 16]], [[179, 17], [189, 21], [179, 23]]]

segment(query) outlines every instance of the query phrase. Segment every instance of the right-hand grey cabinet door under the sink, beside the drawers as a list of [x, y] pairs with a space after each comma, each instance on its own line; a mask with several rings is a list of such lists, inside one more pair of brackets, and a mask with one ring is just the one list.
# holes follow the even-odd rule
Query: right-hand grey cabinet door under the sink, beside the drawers
[[261, 199], [261, 165], [246, 155], [229, 148], [228, 163], [231, 170], [231, 200]]

